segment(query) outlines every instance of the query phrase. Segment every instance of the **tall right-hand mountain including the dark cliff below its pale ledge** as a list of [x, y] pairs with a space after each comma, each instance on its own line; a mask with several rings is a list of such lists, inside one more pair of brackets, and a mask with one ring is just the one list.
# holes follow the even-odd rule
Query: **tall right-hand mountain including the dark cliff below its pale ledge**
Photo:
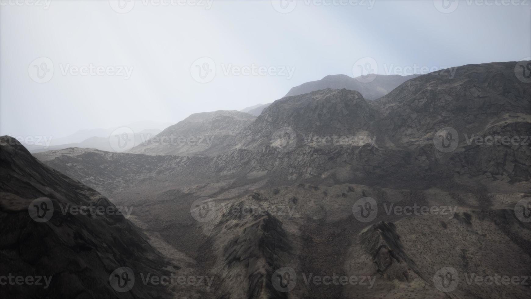
[[517, 78], [515, 65], [464, 65], [452, 78], [440, 71], [405, 82], [375, 101], [386, 143], [433, 146], [435, 133], [450, 128], [455, 142], [439, 151], [441, 163], [461, 174], [528, 181], [531, 85]]

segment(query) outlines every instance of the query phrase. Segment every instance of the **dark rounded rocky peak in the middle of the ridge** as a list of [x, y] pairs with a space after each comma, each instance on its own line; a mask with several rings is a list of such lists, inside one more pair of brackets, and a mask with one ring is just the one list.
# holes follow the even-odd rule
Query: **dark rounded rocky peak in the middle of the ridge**
[[[374, 108], [357, 91], [324, 89], [285, 97], [273, 102], [238, 134], [238, 147], [270, 145], [273, 134], [283, 128], [296, 133], [297, 144], [333, 135], [357, 136], [370, 130], [375, 117]], [[285, 133], [280, 131], [277, 133]]]

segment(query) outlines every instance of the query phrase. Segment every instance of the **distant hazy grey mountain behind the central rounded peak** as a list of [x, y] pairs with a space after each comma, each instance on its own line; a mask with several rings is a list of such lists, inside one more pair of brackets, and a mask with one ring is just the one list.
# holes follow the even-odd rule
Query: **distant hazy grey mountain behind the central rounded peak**
[[357, 90], [367, 100], [375, 100], [387, 95], [391, 90], [397, 88], [400, 84], [409, 79], [416, 78], [418, 75], [376, 75], [371, 82], [361, 82], [356, 78], [347, 75], [328, 75], [318, 81], [303, 83], [293, 87], [288, 91], [285, 97], [298, 96], [303, 93], [309, 93], [320, 89], [350, 89]]

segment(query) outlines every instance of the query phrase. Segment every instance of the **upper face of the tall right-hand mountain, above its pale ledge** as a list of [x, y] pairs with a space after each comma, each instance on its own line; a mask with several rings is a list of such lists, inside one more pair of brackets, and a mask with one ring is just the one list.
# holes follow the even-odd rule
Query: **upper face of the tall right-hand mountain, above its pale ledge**
[[471, 134], [507, 114], [529, 115], [531, 86], [516, 77], [515, 65], [464, 65], [453, 77], [439, 71], [411, 79], [375, 101], [380, 125], [407, 144], [443, 127]]

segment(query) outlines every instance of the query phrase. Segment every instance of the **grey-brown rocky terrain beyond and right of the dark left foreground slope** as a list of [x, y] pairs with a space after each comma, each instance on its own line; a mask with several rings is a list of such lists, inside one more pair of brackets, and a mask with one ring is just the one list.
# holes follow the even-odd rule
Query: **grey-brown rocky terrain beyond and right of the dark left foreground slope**
[[208, 146], [35, 157], [134, 207], [153, 254], [215, 277], [159, 297], [527, 298], [529, 284], [483, 283], [530, 275], [531, 86], [515, 64], [417, 76], [379, 99], [327, 87], [158, 135]]

